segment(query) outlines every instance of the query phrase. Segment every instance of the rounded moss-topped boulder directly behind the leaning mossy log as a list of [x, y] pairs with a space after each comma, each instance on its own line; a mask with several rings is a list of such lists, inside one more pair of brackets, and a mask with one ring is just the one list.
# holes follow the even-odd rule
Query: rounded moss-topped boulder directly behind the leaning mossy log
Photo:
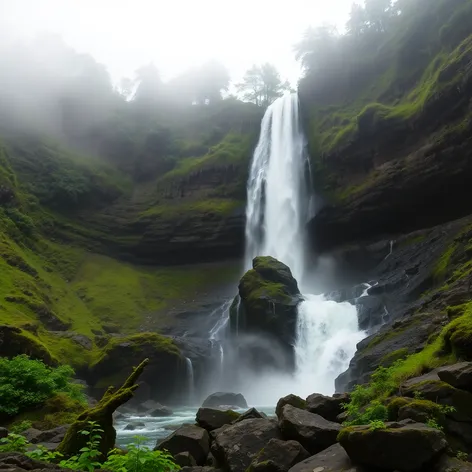
[[175, 400], [186, 381], [185, 359], [171, 338], [157, 333], [112, 338], [91, 366], [88, 381], [97, 393], [120, 385], [143, 358], [149, 364], [140, 381], [149, 386], [149, 397], [162, 403]]

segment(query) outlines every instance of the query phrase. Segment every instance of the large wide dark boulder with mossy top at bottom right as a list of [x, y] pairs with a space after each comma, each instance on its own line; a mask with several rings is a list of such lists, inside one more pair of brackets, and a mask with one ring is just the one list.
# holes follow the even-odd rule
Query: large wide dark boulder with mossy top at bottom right
[[387, 423], [384, 429], [351, 426], [338, 439], [354, 463], [400, 472], [432, 465], [447, 447], [441, 431], [421, 423]]

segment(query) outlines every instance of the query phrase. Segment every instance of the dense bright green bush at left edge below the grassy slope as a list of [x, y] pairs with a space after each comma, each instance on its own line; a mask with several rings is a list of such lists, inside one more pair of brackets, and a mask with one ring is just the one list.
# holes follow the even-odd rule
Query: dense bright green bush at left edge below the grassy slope
[[17, 415], [59, 392], [83, 399], [81, 386], [71, 382], [73, 375], [69, 366], [48, 367], [26, 355], [0, 358], [0, 414]]

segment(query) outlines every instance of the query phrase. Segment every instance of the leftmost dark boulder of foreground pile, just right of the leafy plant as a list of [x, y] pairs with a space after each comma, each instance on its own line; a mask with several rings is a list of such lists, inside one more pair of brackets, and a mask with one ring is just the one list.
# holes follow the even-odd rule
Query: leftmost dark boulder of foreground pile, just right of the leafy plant
[[188, 452], [198, 465], [203, 465], [210, 452], [210, 437], [206, 429], [195, 425], [183, 425], [159, 441], [155, 449], [168, 450], [173, 456]]

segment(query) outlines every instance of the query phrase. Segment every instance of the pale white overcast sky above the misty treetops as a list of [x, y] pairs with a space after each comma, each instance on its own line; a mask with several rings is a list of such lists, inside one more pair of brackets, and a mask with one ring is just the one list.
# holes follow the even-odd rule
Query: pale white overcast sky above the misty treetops
[[341, 28], [353, 0], [0, 0], [0, 27], [16, 36], [54, 32], [104, 63], [112, 77], [133, 77], [154, 62], [164, 79], [209, 59], [233, 80], [271, 62], [295, 84], [293, 44], [310, 25]]

